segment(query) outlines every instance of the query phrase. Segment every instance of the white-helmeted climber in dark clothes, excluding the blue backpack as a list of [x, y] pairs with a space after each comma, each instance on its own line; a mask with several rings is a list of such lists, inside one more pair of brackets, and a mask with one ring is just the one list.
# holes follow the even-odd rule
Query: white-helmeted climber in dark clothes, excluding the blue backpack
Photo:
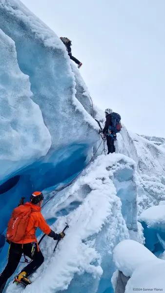
[[114, 134], [114, 137], [107, 135], [108, 134], [108, 127], [112, 126], [112, 117], [111, 117], [111, 113], [112, 113], [112, 109], [105, 109], [105, 117], [106, 117], [106, 121], [105, 121], [105, 126], [103, 128], [103, 135], [106, 136], [106, 143], [107, 143], [107, 148], [108, 148], [108, 153], [113, 153], [115, 152], [115, 146], [114, 146], [114, 141], [116, 139], [116, 134]]

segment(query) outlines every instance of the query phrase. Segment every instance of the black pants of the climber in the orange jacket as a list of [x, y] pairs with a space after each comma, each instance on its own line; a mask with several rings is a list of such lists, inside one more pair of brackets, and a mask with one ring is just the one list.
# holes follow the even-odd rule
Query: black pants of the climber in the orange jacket
[[[32, 247], [33, 247], [33, 251], [32, 251]], [[21, 271], [21, 272], [26, 272], [27, 276], [35, 272], [44, 261], [42, 252], [37, 251], [36, 242], [23, 244], [23, 249], [22, 249], [22, 244], [11, 243], [8, 263], [4, 271], [0, 275], [0, 293], [2, 292], [1, 289], [3, 286], [5, 286], [4, 284], [6, 284], [8, 278], [10, 278], [12, 274], [16, 271], [19, 265], [22, 253], [27, 255], [29, 258], [33, 259], [33, 261], [29, 263], [26, 267], [24, 267], [23, 270]]]

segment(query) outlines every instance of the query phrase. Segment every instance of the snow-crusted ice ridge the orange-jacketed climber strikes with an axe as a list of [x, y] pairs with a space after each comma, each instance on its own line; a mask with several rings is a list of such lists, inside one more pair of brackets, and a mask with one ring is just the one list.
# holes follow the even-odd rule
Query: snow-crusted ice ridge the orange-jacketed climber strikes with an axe
[[[65, 191], [60, 191], [43, 208], [48, 223], [58, 218], [51, 226], [53, 230], [60, 232], [65, 222], [69, 223], [69, 229], [54, 255], [54, 241], [44, 238], [41, 243], [44, 264], [33, 275], [34, 282], [25, 292], [67, 289], [68, 293], [91, 293], [104, 292], [111, 287], [109, 273], [114, 270], [113, 248], [129, 238], [115, 183], [119, 177], [122, 181], [121, 170], [126, 172], [127, 168], [129, 173], [133, 164], [132, 159], [121, 154], [99, 156], [83, 176]], [[6, 292], [12, 288], [13, 284]], [[15, 290], [20, 292], [21, 289]]]

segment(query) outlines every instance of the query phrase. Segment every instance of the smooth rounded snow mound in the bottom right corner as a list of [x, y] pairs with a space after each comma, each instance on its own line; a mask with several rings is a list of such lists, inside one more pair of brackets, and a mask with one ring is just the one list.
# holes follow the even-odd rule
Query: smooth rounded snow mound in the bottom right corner
[[[165, 261], [157, 258], [140, 243], [133, 240], [124, 240], [119, 243], [113, 254], [117, 269], [130, 277], [125, 287], [125, 293], [136, 291], [165, 291]], [[118, 273], [112, 278], [114, 291], [117, 290]], [[118, 292], [120, 284], [118, 284]], [[117, 291], [115, 291], [116, 293]]]

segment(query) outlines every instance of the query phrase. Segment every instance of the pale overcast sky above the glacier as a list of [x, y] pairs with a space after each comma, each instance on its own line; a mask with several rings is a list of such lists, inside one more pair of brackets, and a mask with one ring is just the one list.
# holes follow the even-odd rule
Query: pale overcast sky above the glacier
[[72, 54], [91, 97], [125, 126], [165, 137], [165, 0], [22, 0]]

